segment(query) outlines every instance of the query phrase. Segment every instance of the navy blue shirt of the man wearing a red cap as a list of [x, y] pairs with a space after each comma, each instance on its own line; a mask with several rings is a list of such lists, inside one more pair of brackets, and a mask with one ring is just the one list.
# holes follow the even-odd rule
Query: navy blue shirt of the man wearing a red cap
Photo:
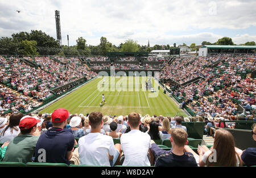
[[35, 162], [45, 160], [46, 163], [65, 163], [69, 165], [66, 155], [67, 151], [73, 149], [74, 143], [75, 137], [71, 129], [51, 128], [40, 135], [36, 143]]

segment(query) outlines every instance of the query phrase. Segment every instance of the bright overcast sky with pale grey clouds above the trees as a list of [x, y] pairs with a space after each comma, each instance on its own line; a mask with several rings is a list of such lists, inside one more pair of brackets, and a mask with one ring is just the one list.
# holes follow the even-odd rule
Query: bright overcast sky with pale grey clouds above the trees
[[[0, 37], [38, 29], [56, 39], [55, 10], [60, 11], [64, 45], [80, 36], [88, 45], [104, 36], [119, 45], [216, 42], [224, 36], [236, 44], [256, 41], [256, 1], [151, 0], [0, 0]], [[18, 13], [16, 10], [20, 10]]]

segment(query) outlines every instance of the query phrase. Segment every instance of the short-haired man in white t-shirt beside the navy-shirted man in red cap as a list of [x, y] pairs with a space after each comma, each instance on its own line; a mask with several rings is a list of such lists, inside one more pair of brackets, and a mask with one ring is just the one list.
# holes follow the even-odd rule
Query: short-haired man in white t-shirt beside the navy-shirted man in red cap
[[114, 145], [113, 138], [101, 134], [102, 113], [92, 112], [89, 124], [92, 131], [79, 139], [80, 164], [92, 166], [114, 166], [121, 153], [121, 145]]

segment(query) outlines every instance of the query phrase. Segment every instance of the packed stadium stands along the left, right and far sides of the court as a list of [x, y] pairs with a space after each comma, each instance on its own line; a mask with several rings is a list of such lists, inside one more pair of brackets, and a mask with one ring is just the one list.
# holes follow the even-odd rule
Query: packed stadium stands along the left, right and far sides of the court
[[[169, 58], [162, 60], [162, 58], [148, 57], [144, 59], [143, 65], [141, 65], [135, 57], [119, 57], [116, 58], [115, 61], [124, 63], [114, 62], [113, 64], [110, 63], [108, 57], [98, 56], [86, 58], [86, 61], [92, 62], [90, 64], [87, 63], [91, 69], [100, 70], [109, 69], [111, 65], [114, 66], [115, 69], [121, 70], [162, 69], [163, 62], [168, 60]], [[146, 63], [154, 61], [158, 61], [159, 63], [147, 65], [145, 61]], [[105, 64], [104, 62], [108, 63]], [[159, 76], [162, 81], [161, 83], [164, 87], [168, 87], [167, 91], [171, 96], [176, 99], [178, 103], [182, 103], [183, 108], [188, 109], [191, 116], [193, 116], [183, 118], [181, 124], [187, 128], [188, 147], [191, 150], [197, 152], [198, 145], [207, 146], [208, 148], [214, 147], [214, 144], [217, 143], [205, 145], [204, 136], [208, 135], [209, 137], [214, 137], [216, 130], [224, 129], [232, 133], [238, 149], [245, 150], [253, 147], [255, 154], [256, 86], [255, 78], [251, 78], [253, 76], [250, 75], [252, 71], [255, 71], [255, 62], [256, 57], [253, 55], [216, 55], [211, 57], [177, 57], [172, 60], [172, 62], [164, 65]], [[39, 118], [39, 115], [31, 114], [31, 111], [56, 99], [64, 92], [72, 90], [72, 88], [77, 87], [82, 82], [97, 76], [97, 73], [89, 70], [88, 66], [85, 66], [79, 58], [0, 57], [1, 118], [7, 118], [9, 120], [11, 115], [19, 112], [24, 115]], [[201, 78], [199, 80], [193, 80], [198, 77]], [[81, 80], [84, 78], [86, 79]], [[75, 83], [75, 81], [78, 80], [79, 82]], [[73, 114], [74, 115], [69, 115], [66, 119], [70, 120], [71, 117], [75, 116], [75, 113]], [[82, 117], [84, 116], [85, 115]], [[114, 117], [112, 117], [112, 119], [113, 118]], [[45, 118], [42, 116], [40, 119], [43, 122]], [[168, 119], [171, 123], [170, 126], [174, 126], [175, 117], [169, 117]], [[6, 122], [0, 125], [1, 133], [8, 124], [9, 123]], [[161, 120], [159, 125], [162, 125]], [[141, 126], [146, 128], [143, 124]], [[17, 127], [16, 129], [19, 128]], [[41, 129], [43, 129], [42, 125], [39, 125], [38, 129], [41, 131]], [[147, 131], [148, 128], [144, 129], [145, 133]], [[251, 133], [253, 133], [253, 137]], [[37, 136], [40, 137], [40, 134]], [[5, 137], [5, 135], [0, 135], [0, 138], [1, 137]], [[80, 138], [74, 137], [74, 139], [79, 143]], [[160, 149], [169, 152], [172, 150], [170, 138], [154, 141]], [[119, 143], [121, 143], [120, 139], [113, 138], [114, 145]], [[8, 151], [8, 145], [5, 146], [3, 144], [4, 143], [1, 143], [0, 145], [1, 153], [4, 155], [4, 153]], [[75, 150], [78, 149], [77, 147], [79, 147], [79, 145], [73, 146]], [[242, 153], [240, 156], [243, 160], [244, 157]], [[60, 162], [22, 163], [1, 161], [0, 167], [90, 166], [73, 164], [72, 161], [70, 163], [71, 164], [68, 165]], [[199, 164], [198, 160], [197, 163]], [[240, 164], [240, 166], [246, 165], [255, 166], [255, 164], [247, 164], [246, 162]], [[116, 164], [115, 166], [122, 165]], [[151, 162], [151, 166], [154, 166], [154, 162]]]

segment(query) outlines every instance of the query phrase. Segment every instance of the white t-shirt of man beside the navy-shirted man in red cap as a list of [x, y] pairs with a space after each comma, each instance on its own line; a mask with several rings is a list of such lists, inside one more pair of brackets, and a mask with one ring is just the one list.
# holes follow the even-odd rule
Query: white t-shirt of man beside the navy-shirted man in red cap
[[80, 164], [110, 166], [110, 156], [115, 154], [113, 138], [101, 133], [89, 133], [79, 139]]

